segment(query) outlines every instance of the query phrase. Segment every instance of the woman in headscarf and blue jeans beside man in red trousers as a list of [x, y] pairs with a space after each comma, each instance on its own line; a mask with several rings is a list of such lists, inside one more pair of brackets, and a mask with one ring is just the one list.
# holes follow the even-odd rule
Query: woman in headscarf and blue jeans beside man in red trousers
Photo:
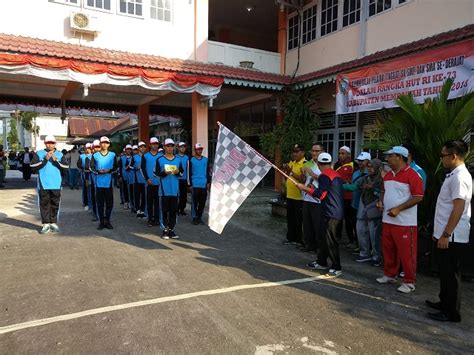
[[370, 262], [372, 266], [380, 266], [382, 212], [376, 207], [382, 188], [382, 161], [372, 159], [367, 166], [368, 175], [358, 181], [361, 192], [357, 210], [357, 239], [359, 256], [357, 262]]

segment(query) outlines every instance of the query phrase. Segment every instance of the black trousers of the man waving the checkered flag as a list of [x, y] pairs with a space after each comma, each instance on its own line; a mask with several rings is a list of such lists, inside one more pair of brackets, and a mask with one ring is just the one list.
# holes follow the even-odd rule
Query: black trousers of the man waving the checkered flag
[[318, 249], [318, 264], [327, 266], [327, 259], [331, 261], [331, 269], [341, 270], [339, 243], [341, 242], [342, 221], [323, 217], [321, 219], [321, 236]]

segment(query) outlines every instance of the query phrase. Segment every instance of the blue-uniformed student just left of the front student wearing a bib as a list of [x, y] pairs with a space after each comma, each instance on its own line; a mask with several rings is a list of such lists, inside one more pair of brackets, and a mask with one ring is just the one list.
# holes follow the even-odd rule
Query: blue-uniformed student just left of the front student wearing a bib
[[148, 212], [148, 227], [158, 225], [160, 220], [160, 178], [154, 175], [156, 160], [163, 156], [158, 152], [158, 138], [150, 138], [150, 151], [145, 153], [141, 161], [141, 172], [146, 181], [146, 202]]

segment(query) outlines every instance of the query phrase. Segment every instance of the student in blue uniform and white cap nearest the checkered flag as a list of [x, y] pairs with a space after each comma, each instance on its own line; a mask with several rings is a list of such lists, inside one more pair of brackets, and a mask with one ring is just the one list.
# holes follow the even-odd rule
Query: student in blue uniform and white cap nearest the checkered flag
[[209, 190], [209, 160], [202, 155], [204, 147], [201, 143], [194, 145], [194, 156], [188, 162], [188, 186], [192, 196], [193, 224], [204, 224], [202, 214]]

